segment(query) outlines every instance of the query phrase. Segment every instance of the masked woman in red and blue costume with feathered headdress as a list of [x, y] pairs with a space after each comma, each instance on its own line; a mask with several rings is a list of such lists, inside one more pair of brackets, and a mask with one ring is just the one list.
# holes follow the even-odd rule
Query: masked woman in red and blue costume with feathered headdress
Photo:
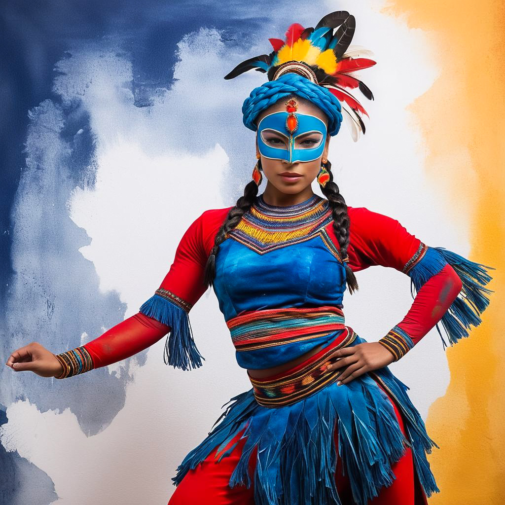
[[[345, 88], [372, 99], [350, 74], [375, 63], [366, 51], [348, 51], [354, 28], [344, 11], [315, 28], [293, 24], [286, 41], [270, 39], [271, 54], [226, 76], [255, 68], [269, 78], [242, 107], [245, 126], [257, 132], [253, 180], [235, 206], [208, 210], [189, 226], [138, 314], [76, 349], [55, 356], [31, 343], [7, 362], [63, 379], [169, 333], [166, 363], [200, 367], [188, 313], [212, 285], [253, 387], [230, 400], [180, 464], [170, 505], [414, 505], [438, 491], [426, 460], [435, 444], [387, 365], [439, 321], [451, 344], [468, 336], [487, 307], [490, 277], [394, 219], [345, 205], [329, 141], [342, 113], [355, 140], [365, 132], [366, 112]], [[316, 178], [326, 198], [312, 191]], [[406, 317], [378, 342], [358, 336], [342, 312], [346, 286], [356, 290], [355, 272], [371, 265], [406, 273], [417, 290]]]

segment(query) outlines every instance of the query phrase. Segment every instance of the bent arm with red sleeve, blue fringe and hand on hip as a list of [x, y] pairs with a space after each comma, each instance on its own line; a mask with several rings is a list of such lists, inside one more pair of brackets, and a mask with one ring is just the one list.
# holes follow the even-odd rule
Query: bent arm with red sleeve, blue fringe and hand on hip
[[417, 294], [407, 315], [378, 342], [336, 351], [339, 359], [331, 368], [346, 367], [339, 383], [398, 361], [438, 322], [451, 345], [468, 336], [471, 325], [481, 322], [491, 292], [485, 287], [491, 279], [489, 267], [441, 247], [429, 247], [398, 221], [368, 209], [349, 208], [349, 218], [349, 266], [353, 270], [371, 265], [395, 268], [411, 277]]

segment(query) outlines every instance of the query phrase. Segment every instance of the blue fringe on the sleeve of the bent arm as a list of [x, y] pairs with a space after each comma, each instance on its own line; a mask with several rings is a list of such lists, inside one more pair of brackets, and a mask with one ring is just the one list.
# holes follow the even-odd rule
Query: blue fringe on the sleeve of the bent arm
[[[468, 337], [471, 326], [478, 326], [482, 322], [480, 315], [489, 305], [487, 295], [493, 292], [485, 287], [492, 279], [486, 269], [494, 268], [467, 260], [444, 247], [428, 247], [424, 257], [408, 273], [416, 291], [447, 264], [456, 271], [463, 284], [461, 293], [440, 320], [449, 344], [453, 345], [462, 337]], [[447, 347], [438, 324], [436, 328], [444, 348]]]

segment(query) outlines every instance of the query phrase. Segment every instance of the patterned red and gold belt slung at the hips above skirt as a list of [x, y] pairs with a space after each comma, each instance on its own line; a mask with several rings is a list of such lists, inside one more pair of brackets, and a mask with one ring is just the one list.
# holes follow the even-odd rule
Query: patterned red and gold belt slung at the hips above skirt
[[256, 401], [264, 407], [285, 407], [334, 382], [341, 370], [326, 372], [328, 365], [335, 362], [331, 355], [335, 350], [349, 345], [357, 336], [352, 328], [346, 327], [346, 330], [305, 362], [280, 374], [255, 379], [247, 372]]

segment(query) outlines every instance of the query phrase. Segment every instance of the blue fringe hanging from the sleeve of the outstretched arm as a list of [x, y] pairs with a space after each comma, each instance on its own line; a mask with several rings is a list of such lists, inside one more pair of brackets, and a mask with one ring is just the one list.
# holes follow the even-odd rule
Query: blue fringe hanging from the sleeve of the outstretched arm
[[182, 370], [201, 367], [201, 360], [205, 361], [205, 358], [196, 348], [189, 317], [184, 309], [169, 299], [154, 294], [140, 307], [140, 312], [170, 326], [163, 357], [166, 365]]

